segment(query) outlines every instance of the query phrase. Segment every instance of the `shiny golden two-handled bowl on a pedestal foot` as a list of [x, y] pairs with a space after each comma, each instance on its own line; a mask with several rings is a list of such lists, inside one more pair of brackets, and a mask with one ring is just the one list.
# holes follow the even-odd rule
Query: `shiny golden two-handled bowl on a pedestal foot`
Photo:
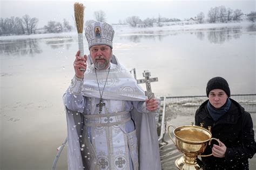
[[[171, 137], [170, 127], [174, 128], [173, 134], [176, 137], [174, 141]], [[175, 161], [175, 165], [178, 169], [204, 169], [203, 162], [198, 159], [199, 157], [209, 157], [212, 155], [201, 155], [207, 145], [211, 145], [212, 140], [219, 140], [212, 138], [210, 130], [203, 128], [203, 126], [191, 125], [175, 127], [173, 125], [168, 126], [168, 133], [172, 142], [176, 145], [179, 151], [183, 154], [182, 157]], [[220, 143], [219, 143], [220, 145]]]

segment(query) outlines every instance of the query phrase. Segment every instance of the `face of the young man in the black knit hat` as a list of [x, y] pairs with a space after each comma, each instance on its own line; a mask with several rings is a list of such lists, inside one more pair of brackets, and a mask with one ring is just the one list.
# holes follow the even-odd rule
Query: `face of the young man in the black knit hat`
[[213, 89], [209, 93], [209, 101], [216, 109], [221, 108], [226, 103], [227, 98], [227, 94], [221, 89]]

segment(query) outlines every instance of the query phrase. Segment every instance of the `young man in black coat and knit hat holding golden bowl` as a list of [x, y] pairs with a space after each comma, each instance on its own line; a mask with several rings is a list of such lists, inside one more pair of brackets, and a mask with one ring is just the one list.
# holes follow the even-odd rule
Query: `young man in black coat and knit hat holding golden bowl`
[[213, 155], [202, 158], [205, 169], [249, 169], [248, 159], [256, 150], [251, 115], [230, 98], [223, 77], [208, 81], [206, 95], [209, 100], [196, 111], [196, 125], [211, 126], [212, 137], [220, 140], [220, 146], [207, 147], [205, 152]]

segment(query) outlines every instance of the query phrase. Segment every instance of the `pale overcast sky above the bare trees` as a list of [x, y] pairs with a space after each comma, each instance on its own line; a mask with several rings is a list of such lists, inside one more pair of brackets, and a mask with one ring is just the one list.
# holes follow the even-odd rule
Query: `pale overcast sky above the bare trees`
[[158, 15], [166, 18], [190, 18], [204, 12], [207, 16], [208, 10], [215, 6], [224, 5], [233, 10], [240, 9], [244, 13], [256, 11], [256, 0], [169, 0], [169, 1], [39, 1], [39, 0], [0, 0], [1, 18], [11, 16], [22, 17], [28, 14], [30, 17], [39, 19], [38, 27], [47, 25], [48, 21], [55, 20], [63, 22], [67, 19], [73, 22], [73, 3], [80, 2], [86, 6], [85, 21], [94, 19], [93, 12], [103, 10], [106, 13], [106, 22], [118, 23], [130, 16], [138, 16], [141, 19], [147, 17], [157, 18]]

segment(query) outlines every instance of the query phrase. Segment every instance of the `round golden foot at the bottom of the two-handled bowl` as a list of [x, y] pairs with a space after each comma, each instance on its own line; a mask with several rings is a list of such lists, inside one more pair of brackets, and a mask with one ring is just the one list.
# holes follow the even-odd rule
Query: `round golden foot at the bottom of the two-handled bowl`
[[182, 157], [178, 158], [175, 161], [175, 165], [178, 169], [184, 169], [184, 170], [193, 170], [193, 169], [200, 169], [203, 170], [204, 169], [204, 164], [200, 159], [196, 159], [196, 162], [193, 162], [193, 164], [186, 164], [185, 163], [185, 155], [183, 155]]

